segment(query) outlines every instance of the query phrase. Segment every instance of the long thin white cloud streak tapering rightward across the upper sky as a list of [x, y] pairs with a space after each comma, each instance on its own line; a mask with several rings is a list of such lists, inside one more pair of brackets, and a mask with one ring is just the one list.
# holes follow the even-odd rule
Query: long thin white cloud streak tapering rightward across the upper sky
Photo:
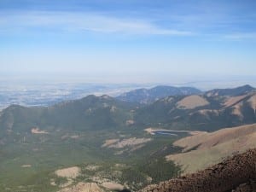
[[122, 19], [100, 14], [65, 12], [28, 12], [0, 15], [0, 31], [32, 28], [67, 32], [103, 32], [145, 35], [188, 36], [192, 32], [157, 26], [150, 20]]

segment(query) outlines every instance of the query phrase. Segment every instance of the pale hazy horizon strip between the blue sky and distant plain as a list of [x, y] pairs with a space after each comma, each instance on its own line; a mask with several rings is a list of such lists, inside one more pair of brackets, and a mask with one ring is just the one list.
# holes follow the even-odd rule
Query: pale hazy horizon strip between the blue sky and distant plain
[[[118, 80], [117, 80], [118, 79]], [[158, 74], [141, 77], [139, 74], [120, 74], [120, 75], [73, 75], [73, 74], [23, 74], [23, 75], [1, 75], [2, 85], [9, 87], [26, 86], [27, 88], [34, 85], [48, 86], [49, 84], [102, 84], [102, 85], [129, 85], [136, 87], [154, 87], [157, 85], [171, 86], [190, 86], [200, 90], [235, 88], [245, 84], [256, 87], [255, 76], [182, 76]], [[4, 86], [4, 87], [6, 87]]]

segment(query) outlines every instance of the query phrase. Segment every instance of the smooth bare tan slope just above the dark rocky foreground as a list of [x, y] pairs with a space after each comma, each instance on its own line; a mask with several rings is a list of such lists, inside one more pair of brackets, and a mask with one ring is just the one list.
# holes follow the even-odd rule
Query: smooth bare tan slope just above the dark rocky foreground
[[183, 172], [196, 172], [227, 156], [256, 148], [256, 124], [201, 132], [177, 140], [173, 145], [183, 148], [183, 153], [167, 155], [166, 159], [182, 166]]

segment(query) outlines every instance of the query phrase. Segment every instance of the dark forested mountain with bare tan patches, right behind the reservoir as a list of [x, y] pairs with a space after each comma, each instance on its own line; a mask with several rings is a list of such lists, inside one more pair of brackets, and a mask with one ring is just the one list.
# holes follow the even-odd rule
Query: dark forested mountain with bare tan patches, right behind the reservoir
[[174, 130], [216, 131], [256, 123], [256, 93], [241, 96], [167, 96], [137, 109], [137, 125]]

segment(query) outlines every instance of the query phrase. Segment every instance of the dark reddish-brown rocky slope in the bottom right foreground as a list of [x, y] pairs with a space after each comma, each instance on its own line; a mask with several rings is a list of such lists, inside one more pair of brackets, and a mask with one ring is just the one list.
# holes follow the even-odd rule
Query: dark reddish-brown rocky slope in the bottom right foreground
[[256, 148], [209, 167], [139, 192], [255, 192]]

